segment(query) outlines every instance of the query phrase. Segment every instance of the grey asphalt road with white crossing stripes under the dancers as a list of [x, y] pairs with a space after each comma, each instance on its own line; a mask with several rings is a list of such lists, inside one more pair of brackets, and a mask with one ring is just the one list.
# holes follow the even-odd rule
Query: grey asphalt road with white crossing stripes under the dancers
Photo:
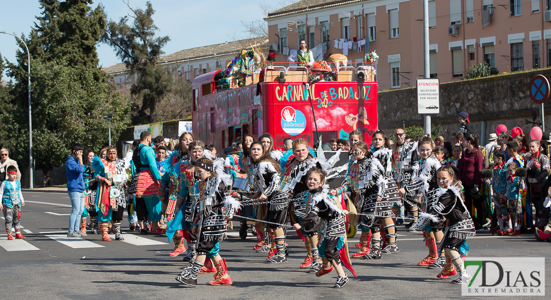
[[[24, 241], [7, 241], [0, 234], [0, 298], [18, 299], [438, 299], [462, 298], [461, 287], [436, 278], [439, 270], [417, 266], [427, 254], [420, 233], [398, 226], [399, 253], [381, 260], [353, 260], [358, 277], [341, 290], [332, 286], [336, 272], [316, 277], [299, 268], [304, 243], [289, 231], [289, 263], [264, 263], [252, 247], [256, 238], [242, 240], [237, 230], [220, 243], [233, 286], [209, 286], [212, 274], [201, 274], [195, 288], [174, 278], [185, 266], [171, 258], [173, 244], [165, 236], [129, 232], [126, 240], [102, 242], [91, 235], [75, 243], [63, 238], [71, 203], [67, 194], [24, 192], [21, 212]], [[349, 240], [350, 254], [359, 234]], [[532, 234], [493, 237], [479, 233], [468, 241], [471, 257], [545, 257], [550, 264], [551, 243], [536, 242]], [[79, 248], [82, 247], [82, 248]], [[350, 272], [347, 271], [349, 276]], [[545, 280], [549, 288], [551, 280]], [[551, 290], [550, 290], [551, 291]], [[523, 297], [515, 297], [523, 298]]]

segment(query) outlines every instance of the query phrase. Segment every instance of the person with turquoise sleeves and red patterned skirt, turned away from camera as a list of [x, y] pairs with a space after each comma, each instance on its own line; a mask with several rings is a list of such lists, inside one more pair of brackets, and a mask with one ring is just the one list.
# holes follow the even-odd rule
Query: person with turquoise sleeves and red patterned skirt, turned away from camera
[[162, 210], [160, 197], [164, 197], [166, 190], [160, 187], [161, 175], [157, 167], [155, 151], [150, 145], [151, 133], [142, 132], [140, 143], [132, 155], [132, 170], [134, 172], [130, 194], [136, 195], [138, 221], [145, 223], [149, 218], [152, 222], [151, 233], [163, 234], [165, 230], [159, 228]]

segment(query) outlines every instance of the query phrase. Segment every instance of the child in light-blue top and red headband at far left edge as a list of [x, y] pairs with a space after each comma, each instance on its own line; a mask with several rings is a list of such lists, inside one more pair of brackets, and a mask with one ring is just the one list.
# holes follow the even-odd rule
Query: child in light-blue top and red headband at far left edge
[[17, 168], [15, 166], [8, 166], [6, 169], [6, 181], [0, 184], [0, 195], [2, 195], [0, 209], [4, 212], [4, 219], [6, 219], [8, 239], [13, 239], [12, 226], [15, 228], [15, 238], [25, 238], [21, 235], [19, 226], [21, 206], [25, 206], [25, 201], [23, 200], [23, 194], [21, 194], [21, 182], [16, 177]]

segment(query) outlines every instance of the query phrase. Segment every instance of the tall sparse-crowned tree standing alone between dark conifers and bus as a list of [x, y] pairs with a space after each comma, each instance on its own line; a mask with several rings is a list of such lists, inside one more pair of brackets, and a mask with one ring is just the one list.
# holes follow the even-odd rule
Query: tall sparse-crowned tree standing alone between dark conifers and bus
[[159, 30], [152, 18], [155, 10], [150, 2], [146, 6], [145, 10], [128, 6], [133, 13], [131, 25], [127, 24], [129, 16], [121, 18], [118, 23], [109, 21], [101, 40], [115, 48], [131, 76], [138, 75], [131, 93], [142, 100], [141, 114], [148, 111], [149, 122], [154, 123], [157, 121], [157, 103], [171, 91], [174, 74], [159, 62], [159, 57], [164, 54], [162, 48], [170, 38], [155, 37], [155, 31]]

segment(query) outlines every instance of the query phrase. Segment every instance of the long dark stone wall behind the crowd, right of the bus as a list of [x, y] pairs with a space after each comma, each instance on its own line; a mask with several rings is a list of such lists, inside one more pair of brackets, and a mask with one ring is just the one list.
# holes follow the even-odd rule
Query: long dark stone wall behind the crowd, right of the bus
[[[446, 139], [451, 139], [458, 130], [458, 114], [466, 111], [474, 133], [480, 135], [482, 121], [486, 121], [485, 143], [490, 133], [495, 133], [499, 124], [507, 129], [521, 127], [530, 135], [533, 124], [532, 109], [536, 109], [539, 120], [539, 105], [530, 100], [528, 85], [534, 75], [542, 74], [551, 78], [551, 68], [532, 72], [498, 75], [487, 78], [455, 81], [440, 84], [440, 113], [431, 114], [431, 124], [440, 125], [445, 130]], [[423, 115], [417, 113], [417, 89], [398, 89], [379, 92], [377, 96], [379, 128], [389, 134], [397, 127], [424, 126]], [[546, 130], [551, 129], [551, 106], [544, 105]], [[547, 117], [549, 116], [549, 117]], [[481, 142], [482, 144], [482, 142]]]

